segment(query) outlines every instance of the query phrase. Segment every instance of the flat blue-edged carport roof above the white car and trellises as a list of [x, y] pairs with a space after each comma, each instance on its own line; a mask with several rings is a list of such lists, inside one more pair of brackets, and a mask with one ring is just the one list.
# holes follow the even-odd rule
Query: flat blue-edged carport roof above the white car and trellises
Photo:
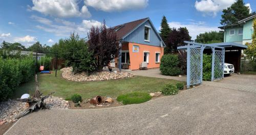
[[202, 43], [196, 43], [196, 42], [190, 42], [190, 41], [184, 41], [184, 43], [188, 44], [185, 46], [179, 46], [178, 49], [185, 49], [189, 46], [193, 45], [193, 47], [200, 47], [201, 45], [207, 46], [207, 47], [219, 47], [219, 48], [225, 48], [225, 50], [240, 50], [240, 49], [246, 49], [247, 45], [239, 44], [239, 43], [233, 43], [233, 42], [223, 42], [223, 43], [211, 43], [211, 44], [202, 44]]

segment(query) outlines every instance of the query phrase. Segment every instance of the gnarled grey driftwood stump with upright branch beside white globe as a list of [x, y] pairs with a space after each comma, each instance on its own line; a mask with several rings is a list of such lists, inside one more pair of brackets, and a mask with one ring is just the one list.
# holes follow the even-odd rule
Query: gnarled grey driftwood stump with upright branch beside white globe
[[50, 95], [52, 95], [54, 92], [48, 94], [47, 96], [42, 96], [42, 93], [40, 93], [39, 91], [39, 83], [37, 81], [37, 75], [35, 75], [35, 84], [36, 84], [36, 90], [32, 97], [29, 97], [26, 99], [20, 99], [20, 98], [15, 99], [20, 102], [29, 103], [29, 108], [26, 111], [24, 111], [22, 114], [19, 114], [18, 116], [16, 116], [16, 118], [20, 118], [25, 116], [28, 113], [32, 113], [35, 109], [40, 109], [40, 110], [50, 109], [50, 107], [46, 105], [44, 100], [48, 98]]

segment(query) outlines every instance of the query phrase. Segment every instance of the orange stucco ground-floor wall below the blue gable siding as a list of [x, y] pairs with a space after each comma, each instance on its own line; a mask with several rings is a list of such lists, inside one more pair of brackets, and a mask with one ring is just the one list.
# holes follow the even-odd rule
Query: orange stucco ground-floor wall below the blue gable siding
[[[139, 52], [133, 52], [133, 45], [139, 46]], [[131, 43], [129, 42], [129, 52], [130, 52], [130, 69], [138, 70], [140, 68], [140, 63], [143, 62], [144, 51], [149, 52], [147, 68], [158, 68], [160, 67], [160, 62], [156, 63], [156, 52], [160, 52], [160, 60], [163, 56], [163, 47]]]

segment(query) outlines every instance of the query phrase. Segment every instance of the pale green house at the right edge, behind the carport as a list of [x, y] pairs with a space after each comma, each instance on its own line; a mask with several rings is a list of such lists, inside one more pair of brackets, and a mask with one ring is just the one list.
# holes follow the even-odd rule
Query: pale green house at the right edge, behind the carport
[[253, 20], [256, 14], [251, 15], [236, 24], [220, 26], [224, 30], [224, 42], [235, 42], [239, 44], [251, 43], [253, 33]]

